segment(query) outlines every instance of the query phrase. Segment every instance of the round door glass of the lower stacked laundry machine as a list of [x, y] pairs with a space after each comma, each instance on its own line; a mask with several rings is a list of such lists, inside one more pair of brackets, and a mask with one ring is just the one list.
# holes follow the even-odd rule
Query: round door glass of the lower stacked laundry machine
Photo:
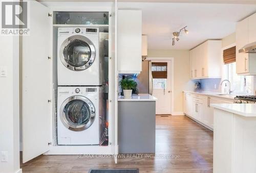
[[63, 111], [71, 125], [85, 125], [90, 120], [90, 107], [87, 103], [81, 100], [73, 100], [69, 102]]

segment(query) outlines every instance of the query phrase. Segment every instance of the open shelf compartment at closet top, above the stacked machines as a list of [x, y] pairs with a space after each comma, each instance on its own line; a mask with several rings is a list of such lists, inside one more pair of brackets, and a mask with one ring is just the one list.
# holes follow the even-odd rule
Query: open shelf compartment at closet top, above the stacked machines
[[108, 25], [109, 12], [53, 12], [53, 24]]

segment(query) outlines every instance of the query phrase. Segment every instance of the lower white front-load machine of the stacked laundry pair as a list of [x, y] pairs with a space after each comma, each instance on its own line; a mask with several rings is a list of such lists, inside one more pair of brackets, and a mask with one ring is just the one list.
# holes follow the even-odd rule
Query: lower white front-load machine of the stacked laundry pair
[[97, 145], [102, 125], [102, 87], [58, 87], [58, 145]]

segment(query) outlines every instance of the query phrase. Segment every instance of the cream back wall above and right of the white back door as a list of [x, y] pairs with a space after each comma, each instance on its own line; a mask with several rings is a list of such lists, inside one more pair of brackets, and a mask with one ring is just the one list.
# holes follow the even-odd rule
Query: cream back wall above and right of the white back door
[[183, 91], [193, 90], [193, 81], [189, 79], [188, 50], [148, 50], [148, 57], [174, 58], [174, 113], [183, 112]]

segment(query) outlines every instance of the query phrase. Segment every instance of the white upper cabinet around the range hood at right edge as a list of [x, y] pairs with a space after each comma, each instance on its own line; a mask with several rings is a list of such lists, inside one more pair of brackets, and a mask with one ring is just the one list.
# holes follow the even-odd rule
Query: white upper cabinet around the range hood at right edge
[[239, 53], [246, 44], [256, 41], [256, 13], [237, 23], [236, 64], [239, 75], [256, 75], [256, 54]]

